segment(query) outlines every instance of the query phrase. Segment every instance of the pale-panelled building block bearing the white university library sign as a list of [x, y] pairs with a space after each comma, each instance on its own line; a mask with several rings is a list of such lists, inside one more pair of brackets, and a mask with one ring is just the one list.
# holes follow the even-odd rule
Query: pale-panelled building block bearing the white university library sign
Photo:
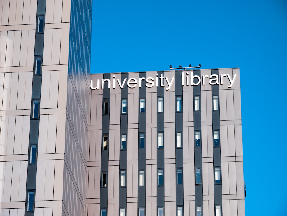
[[92, 74], [88, 215], [244, 216], [239, 68]]

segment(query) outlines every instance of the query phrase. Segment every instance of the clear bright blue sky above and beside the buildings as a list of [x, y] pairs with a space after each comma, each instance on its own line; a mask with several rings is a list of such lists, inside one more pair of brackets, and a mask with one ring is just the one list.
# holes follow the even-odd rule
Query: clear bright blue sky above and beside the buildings
[[95, 1], [91, 72], [240, 67], [246, 216], [287, 215], [287, 1]]

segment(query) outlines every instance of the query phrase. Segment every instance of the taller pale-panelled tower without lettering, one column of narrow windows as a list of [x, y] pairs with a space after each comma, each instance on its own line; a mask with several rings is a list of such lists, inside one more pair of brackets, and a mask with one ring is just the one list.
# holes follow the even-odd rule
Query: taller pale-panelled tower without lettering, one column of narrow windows
[[92, 0], [0, 5], [0, 215], [86, 215]]

